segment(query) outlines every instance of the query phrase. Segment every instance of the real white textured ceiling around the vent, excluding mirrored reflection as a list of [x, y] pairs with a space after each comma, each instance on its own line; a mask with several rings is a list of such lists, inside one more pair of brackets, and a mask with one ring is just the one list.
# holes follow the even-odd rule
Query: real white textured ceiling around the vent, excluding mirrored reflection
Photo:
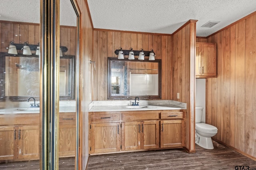
[[[256, 0], [87, 0], [94, 28], [171, 34], [198, 20], [196, 35], [206, 37], [256, 11]], [[212, 28], [201, 27], [220, 21]]]

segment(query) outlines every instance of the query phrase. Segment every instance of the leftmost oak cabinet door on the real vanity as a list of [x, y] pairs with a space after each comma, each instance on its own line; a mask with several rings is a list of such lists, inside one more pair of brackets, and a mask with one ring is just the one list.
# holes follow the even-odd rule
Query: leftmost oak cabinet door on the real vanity
[[120, 150], [120, 123], [91, 124], [91, 153]]

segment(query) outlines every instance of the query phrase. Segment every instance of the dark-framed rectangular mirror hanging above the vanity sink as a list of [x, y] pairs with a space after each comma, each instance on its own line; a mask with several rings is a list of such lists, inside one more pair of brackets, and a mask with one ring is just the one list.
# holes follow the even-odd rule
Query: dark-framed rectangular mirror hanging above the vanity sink
[[161, 60], [108, 57], [108, 99], [160, 99]]

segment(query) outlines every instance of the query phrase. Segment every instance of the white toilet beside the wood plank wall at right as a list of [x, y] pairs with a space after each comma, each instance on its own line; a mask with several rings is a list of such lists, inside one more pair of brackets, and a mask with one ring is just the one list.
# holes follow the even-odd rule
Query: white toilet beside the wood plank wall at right
[[217, 134], [215, 126], [202, 123], [203, 107], [196, 106], [196, 144], [205, 149], [213, 149], [212, 137]]

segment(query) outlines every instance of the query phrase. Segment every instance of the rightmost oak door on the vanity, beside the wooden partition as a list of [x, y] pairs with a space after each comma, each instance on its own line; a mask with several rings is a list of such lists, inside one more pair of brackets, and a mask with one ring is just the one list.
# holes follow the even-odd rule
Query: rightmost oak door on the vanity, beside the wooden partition
[[184, 121], [164, 120], [161, 121], [160, 147], [180, 147], [184, 145]]

